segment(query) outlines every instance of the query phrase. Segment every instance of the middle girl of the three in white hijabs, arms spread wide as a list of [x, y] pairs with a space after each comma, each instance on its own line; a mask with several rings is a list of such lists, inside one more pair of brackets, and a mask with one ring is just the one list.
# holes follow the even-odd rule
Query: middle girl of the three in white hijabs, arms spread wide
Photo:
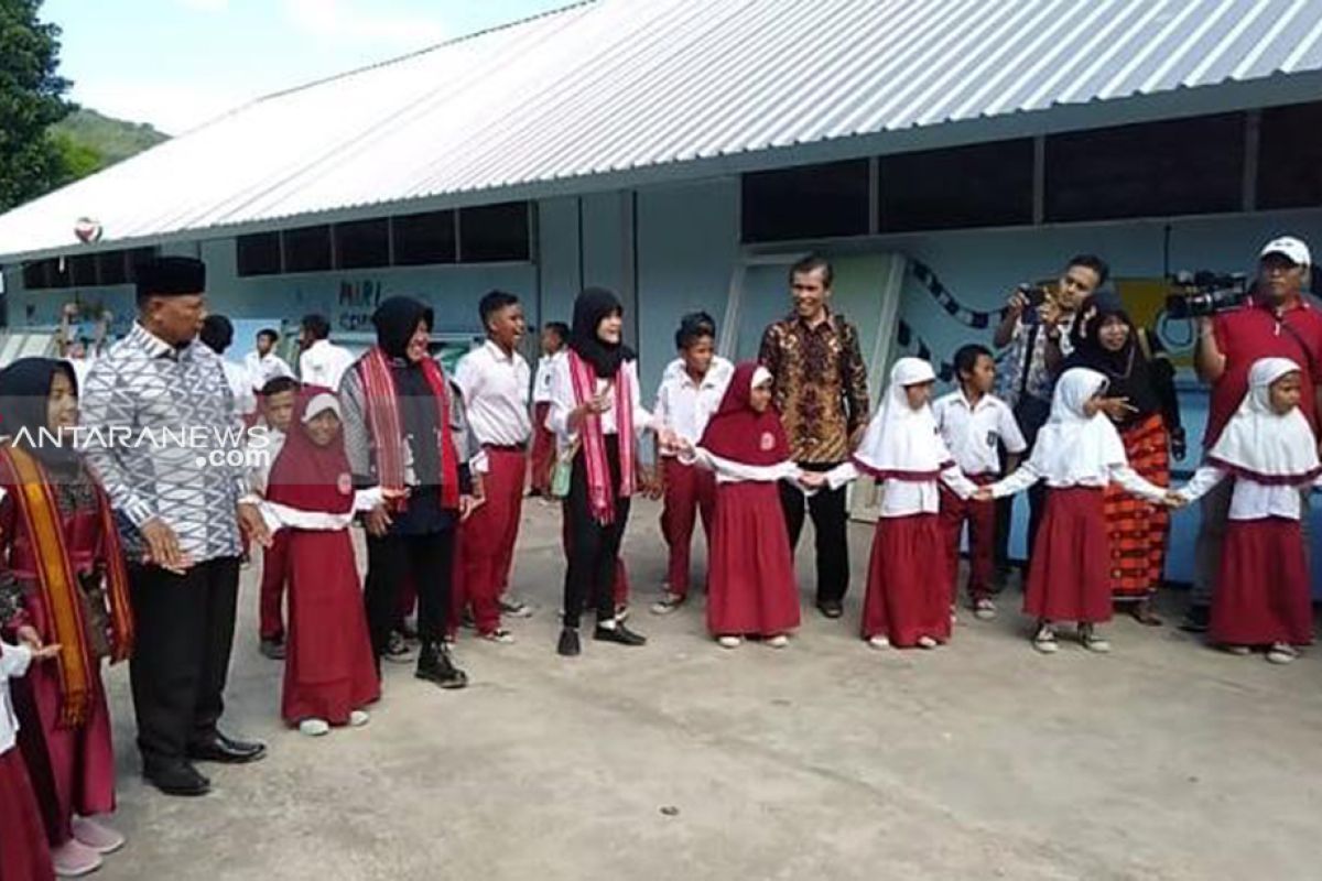
[[1097, 625], [1110, 621], [1110, 553], [1103, 497], [1107, 485], [1153, 503], [1174, 499], [1140, 477], [1125, 457], [1120, 433], [1101, 405], [1107, 376], [1075, 367], [1056, 382], [1051, 419], [1038, 433], [1032, 454], [1019, 470], [980, 490], [999, 498], [1047, 482], [1047, 509], [1032, 544], [1023, 612], [1036, 619], [1032, 646], [1059, 649], [1055, 625], [1073, 621], [1085, 649], [1110, 651]]

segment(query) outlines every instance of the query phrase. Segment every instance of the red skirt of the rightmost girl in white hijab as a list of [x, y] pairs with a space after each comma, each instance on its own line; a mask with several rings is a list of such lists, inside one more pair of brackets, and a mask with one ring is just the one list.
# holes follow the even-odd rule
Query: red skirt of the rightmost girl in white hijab
[[1231, 520], [1212, 592], [1212, 642], [1265, 646], [1313, 642], [1309, 564], [1298, 520]]

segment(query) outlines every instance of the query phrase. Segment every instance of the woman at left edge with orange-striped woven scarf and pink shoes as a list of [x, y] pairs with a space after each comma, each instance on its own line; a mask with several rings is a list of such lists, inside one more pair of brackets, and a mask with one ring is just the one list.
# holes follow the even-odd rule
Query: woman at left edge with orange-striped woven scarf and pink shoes
[[[49, 358], [0, 371], [0, 625], [54, 663], [16, 688], [20, 746], [59, 874], [124, 844], [91, 820], [115, 810], [115, 750], [100, 663], [132, 651], [124, 555], [110, 503], [74, 449], [74, 374]], [[0, 857], [3, 859], [3, 857]]]

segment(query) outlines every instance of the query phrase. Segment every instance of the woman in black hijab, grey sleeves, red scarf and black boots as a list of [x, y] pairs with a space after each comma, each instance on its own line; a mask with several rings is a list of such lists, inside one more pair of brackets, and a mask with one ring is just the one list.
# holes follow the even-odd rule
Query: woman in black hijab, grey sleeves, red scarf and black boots
[[427, 345], [432, 310], [412, 297], [390, 297], [371, 316], [377, 346], [340, 384], [345, 452], [354, 483], [407, 489], [407, 498], [366, 516], [368, 577], [364, 601], [377, 662], [407, 662], [393, 639], [405, 582], [418, 589], [422, 651], [416, 676], [463, 688], [468, 676], [451, 660], [449, 629], [455, 534], [479, 503], [468, 454], [472, 442], [459, 395]]

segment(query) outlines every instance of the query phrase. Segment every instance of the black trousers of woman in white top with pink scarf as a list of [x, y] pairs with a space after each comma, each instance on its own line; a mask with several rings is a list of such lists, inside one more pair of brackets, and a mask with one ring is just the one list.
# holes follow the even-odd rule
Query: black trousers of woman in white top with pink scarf
[[[620, 486], [619, 436], [605, 436], [605, 460], [611, 469], [612, 490]], [[568, 567], [564, 569], [564, 626], [578, 627], [583, 606], [596, 604], [596, 619], [615, 617], [615, 572], [620, 556], [624, 527], [629, 523], [629, 499], [615, 499], [615, 519], [598, 523], [588, 499], [587, 458], [583, 450], [574, 457], [570, 494], [564, 499], [568, 523]]]

